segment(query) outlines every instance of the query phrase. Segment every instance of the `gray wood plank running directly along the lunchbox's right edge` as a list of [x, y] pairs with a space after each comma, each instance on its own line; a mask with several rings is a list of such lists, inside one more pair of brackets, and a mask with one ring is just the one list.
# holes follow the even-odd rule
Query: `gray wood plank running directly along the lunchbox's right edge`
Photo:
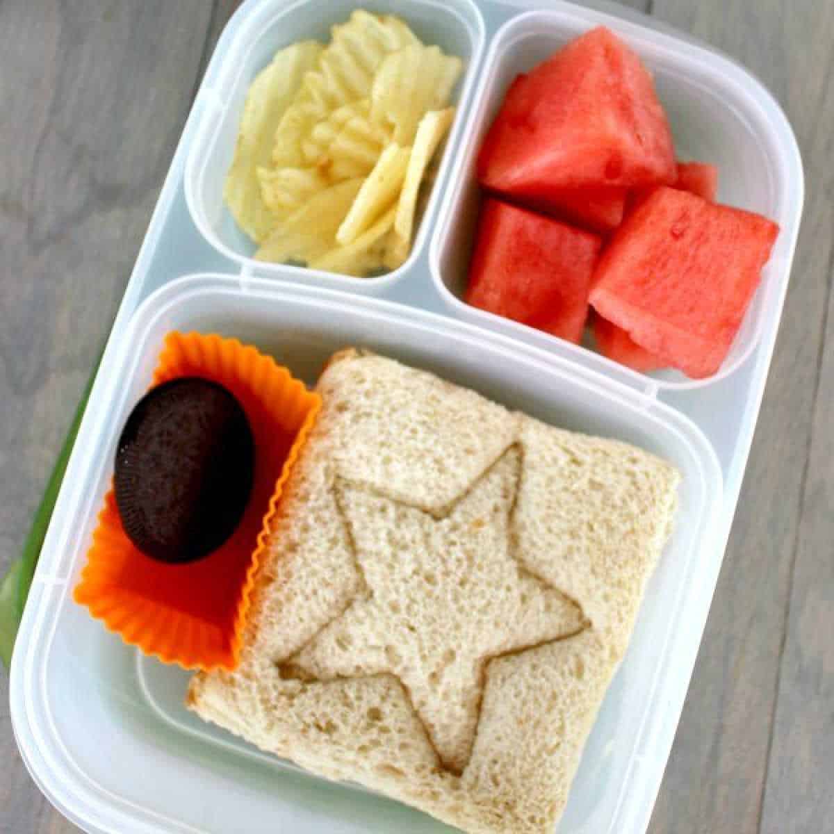
[[[831, 178], [826, 172], [834, 103], [826, 78], [831, 73], [834, 9], [830, 4], [781, 0], [656, 0], [654, 10], [668, 23], [740, 59], [771, 88], [791, 119], [806, 165], [805, 221], [766, 398], [724, 569], [651, 824], [652, 834], [751, 834], [759, 828], [828, 294], [834, 218]], [[830, 632], [831, 611], [826, 622]], [[817, 625], [821, 624], [819, 620]], [[786, 675], [783, 681], [789, 689]], [[816, 778], [825, 778], [822, 772]], [[811, 774], [800, 778], [797, 773], [795, 786], [813, 779]], [[803, 801], [793, 791], [786, 791], [783, 798]], [[783, 816], [782, 824], [769, 830], [813, 830], [787, 821]]]

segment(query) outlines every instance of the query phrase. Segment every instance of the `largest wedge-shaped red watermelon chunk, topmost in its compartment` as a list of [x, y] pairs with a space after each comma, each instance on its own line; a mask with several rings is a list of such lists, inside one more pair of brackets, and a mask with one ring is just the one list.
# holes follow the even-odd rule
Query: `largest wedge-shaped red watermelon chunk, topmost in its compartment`
[[515, 198], [671, 183], [671, 131], [651, 76], [609, 29], [592, 29], [515, 79], [478, 159], [485, 188]]

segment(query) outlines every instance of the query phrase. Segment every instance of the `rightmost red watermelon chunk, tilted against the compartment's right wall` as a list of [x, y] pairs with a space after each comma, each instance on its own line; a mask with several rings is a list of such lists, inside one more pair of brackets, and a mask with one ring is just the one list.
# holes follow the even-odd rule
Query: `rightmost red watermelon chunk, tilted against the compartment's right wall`
[[721, 367], [779, 227], [759, 214], [657, 188], [611, 240], [590, 303], [665, 364]]

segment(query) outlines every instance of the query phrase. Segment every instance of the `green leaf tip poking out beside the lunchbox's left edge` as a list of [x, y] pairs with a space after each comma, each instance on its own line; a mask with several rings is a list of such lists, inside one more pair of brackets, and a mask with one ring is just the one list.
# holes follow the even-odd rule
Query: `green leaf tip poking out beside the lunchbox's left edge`
[[52, 518], [55, 509], [55, 501], [58, 499], [58, 491], [61, 489], [64, 472], [67, 470], [69, 455], [73, 451], [73, 445], [75, 445], [78, 426], [81, 425], [84, 409], [87, 408], [87, 401], [90, 397], [90, 389], [93, 388], [93, 381], [96, 378], [98, 364], [96, 362], [93, 373], [90, 374], [90, 378], [84, 387], [78, 408], [75, 409], [73, 422], [69, 427], [66, 439], [63, 441], [58, 460], [55, 461], [52, 475], [49, 476], [49, 482], [46, 491], [43, 493], [41, 503], [38, 505], [38, 510], [35, 511], [29, 535], [23, 543], [23, 554], [12, 563], [8, 574], [0, 584], [0, 658], [3, 659], [3, 663], [7, 667], [12, 661], [14, 638], [18, 634], [20, 620], [23, 617], [23, 607], [26, 605], [35, 568], [38, 566], [38, 557], [41, 555], [43, 539], [47, 535], [49, 520]]

